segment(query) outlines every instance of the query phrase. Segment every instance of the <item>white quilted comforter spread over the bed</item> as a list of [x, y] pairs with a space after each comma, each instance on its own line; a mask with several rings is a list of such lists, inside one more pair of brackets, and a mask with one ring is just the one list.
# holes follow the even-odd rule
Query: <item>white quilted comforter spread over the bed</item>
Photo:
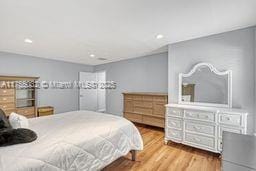
[[118, 116], [74, 111], [29, 122], [38, 139], [0, 147], [1, 171], [99, 170], [143, 149], [137, 128]]

